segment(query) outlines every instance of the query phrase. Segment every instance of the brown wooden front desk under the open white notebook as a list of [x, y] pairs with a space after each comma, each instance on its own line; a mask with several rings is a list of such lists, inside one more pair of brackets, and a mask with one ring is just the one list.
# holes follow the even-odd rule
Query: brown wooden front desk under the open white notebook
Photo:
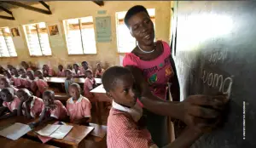
[[[38, 131], [44, 128], [47, 124], [51, 124], [54, 122], [55, 121], [51, 121], [41, 126], [38, 126], [33, 131], [28, 132], [27, 135], [31, 138], [38, 139], [38, 134], [36, 134], [35, 131]], [[90, 130], [85, 126], [80, 126], [77, 124], [69, 123], [69, 125], [73, 125], [73, 128], [64, 137], [64, 139], [50, 139], [49, 141], [60, 147], [73, 147], [73, 148], [79, 147], [80, 142], [90, 133]]]

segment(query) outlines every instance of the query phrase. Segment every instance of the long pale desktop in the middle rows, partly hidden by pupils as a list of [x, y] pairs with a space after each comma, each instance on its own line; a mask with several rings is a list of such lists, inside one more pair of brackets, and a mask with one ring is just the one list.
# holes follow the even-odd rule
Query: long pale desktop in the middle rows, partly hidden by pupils
[[[48, 83], [65, 83], [66, 77], [45, 77]], [[84, 83], [84, 77], [73, 78], [74, 83]], [[95, 78], [96, 83], [102, 83], [101, 78]]]

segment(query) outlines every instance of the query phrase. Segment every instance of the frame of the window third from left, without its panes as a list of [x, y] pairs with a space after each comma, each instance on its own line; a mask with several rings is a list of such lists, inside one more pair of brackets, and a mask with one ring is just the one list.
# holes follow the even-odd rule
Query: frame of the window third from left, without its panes
[[[83, 30], [83, 28], [82, 28], [82, 19], [84, 19], [84, 18], [87, 18], [87, 17], [91, 17], [91, 19], [92, 19], [92, 22], [91, 22], [91, 25], [93, 26], [92, 28], [93, 28], [93, 31], [94, 31], [94, 41], [95, 41], [95, 48], [96, 48], [96, 50], [95, 50], [95, 53], [92, 53], [92, 54], [90, 54], [90, 53], [85, 53], [85, 51], [86, 51], [86, 48], [84, 47], [84, 43], [83, 43], [83, 41], [84, 41], [84, 39], [83, 39], [83, 32], [82, 32], [82, 30]], [[72, 53], [70, 53], [69, 52], [69, 45], [68, 45], [68, 33], [67, 33], [67, 20], [79, 20], [79, 37], [80, 37], [80, 40], [81, 40], [81, 47], [82, 47], [82, 54], [78, 54], [78, 53], [76, 53], [76, 54], [72, 54]], [[98, 50], [97, 50], [97, 46], [96, 46], [96, 27], [95, 27], [95, 18], [92, 16], [92, 15], [90, 15], [90, 16], [84, 16], [84, 17], [79, 17], [79, 18], [70, 18], [70, 19], [65, 19], [65, 20], [62, 20], [62, 25], [63, 25], [63, 29], [64, 29], [64, 32], [65, 32], [65, 40], [66, 40], [66, 46], [67, 46], [67, 54], [68, 55], [93, 55], [93, 54], [97, 54], [98, 53]]]

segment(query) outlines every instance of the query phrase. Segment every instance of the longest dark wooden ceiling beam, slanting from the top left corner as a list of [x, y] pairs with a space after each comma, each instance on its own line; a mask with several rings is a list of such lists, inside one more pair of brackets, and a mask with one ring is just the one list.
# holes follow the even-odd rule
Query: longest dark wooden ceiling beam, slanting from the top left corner
[[29, 5], [26, 5], [24, 3], [20, 3], [20, 2], [14, 2], [14, 1], [1, 1], [1, 2], [2, 3], [9, 3], [11, 5], [19, 6], [19, 7], [22, 7], [24, 9], [29, 9], [29, 10], [32, 10], [32, 11], [35, 11], [35, 12], [38, 12], [38, 13], [41, 13], [41, 14], [52, 14], [50, 10], [38, 9], [36, 7], [32, 7], [32, 6], [29, 6]]

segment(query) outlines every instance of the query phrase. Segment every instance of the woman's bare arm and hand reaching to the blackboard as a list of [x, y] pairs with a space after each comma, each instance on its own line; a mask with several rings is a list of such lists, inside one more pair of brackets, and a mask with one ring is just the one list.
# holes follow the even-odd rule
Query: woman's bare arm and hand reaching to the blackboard
[[[223, 96], [216, 98], [207, 95], [191, 95], [183, 102], [166, 101], [154, 96], [151, 93], [148, 83], [145, 82], [142, 71], [135, 66], [125, 66], [135, 78], [140, 101], [148, 111], [162, 116], [170, 116], [185, 122], [187, 125], [195, 126], [198, 122], [207, 122], [203, 118], [216, 118], [219, 112], [213, 109], [222, 110], [227, 100]], [[203, 106], [211, 106], [213, 109]], [[203, 126], [203, 124], [201, 124]]]

